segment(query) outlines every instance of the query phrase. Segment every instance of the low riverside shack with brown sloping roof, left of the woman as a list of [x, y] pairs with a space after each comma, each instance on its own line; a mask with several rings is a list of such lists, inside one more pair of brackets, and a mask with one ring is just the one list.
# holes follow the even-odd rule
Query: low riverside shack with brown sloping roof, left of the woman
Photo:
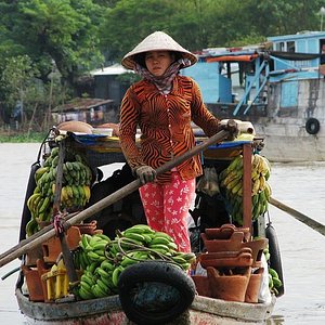
[[55, 123], [68, 120], [79, 120], [92, 126], [101, 125], [113, 120], [113, 100], [103, 99], [74, 99], [66, 104], [52, 109], [52, 117]]

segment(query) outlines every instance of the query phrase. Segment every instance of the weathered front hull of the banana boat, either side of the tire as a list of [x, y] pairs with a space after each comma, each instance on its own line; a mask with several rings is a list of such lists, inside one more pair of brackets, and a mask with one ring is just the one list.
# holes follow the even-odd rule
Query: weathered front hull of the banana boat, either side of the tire
[[[34, 302], [16, 289], [16, 298], [28, 324], [37, 325], [127, 325], [118, 296], [77, 302]], [[173, 325], [263, 324], [272, 314], [275, 298], [270, 303], [242, 303], [196, 296], [190, 310], [173, 321]]]

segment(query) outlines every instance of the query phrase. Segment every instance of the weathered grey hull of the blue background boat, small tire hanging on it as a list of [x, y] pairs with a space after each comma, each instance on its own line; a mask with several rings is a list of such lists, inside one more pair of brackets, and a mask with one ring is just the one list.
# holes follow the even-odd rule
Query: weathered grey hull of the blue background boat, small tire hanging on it
[[[294, 81], [269, 86], [266, 116], [252, 114], [257, 135], [264, 138], [263, 155], [278, 162], [325, 160], [325, 79], [306, 78], [295, 82], [299, 93], [288, 107], [282, 99], [283, 88]], [[272, 91], [271, 91], [272, 90]], [[316, 122], [311, 127], [311, 123]]]

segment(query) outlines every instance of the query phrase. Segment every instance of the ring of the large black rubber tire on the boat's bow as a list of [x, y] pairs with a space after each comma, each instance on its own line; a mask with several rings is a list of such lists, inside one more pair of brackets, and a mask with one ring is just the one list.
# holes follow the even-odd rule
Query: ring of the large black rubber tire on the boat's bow
[[[139, 311], [132, 303], [131, 291], [139, 283], [162, 283], [179, 290], [182, 299], [168, 312]], [[195, 284], [184, 271], [161, 261], [145, 261], [128, 266], [118, 281], [119, 299], [128, 318], [139, 325], [159, 325], [176, 320], [192, 304]]]

